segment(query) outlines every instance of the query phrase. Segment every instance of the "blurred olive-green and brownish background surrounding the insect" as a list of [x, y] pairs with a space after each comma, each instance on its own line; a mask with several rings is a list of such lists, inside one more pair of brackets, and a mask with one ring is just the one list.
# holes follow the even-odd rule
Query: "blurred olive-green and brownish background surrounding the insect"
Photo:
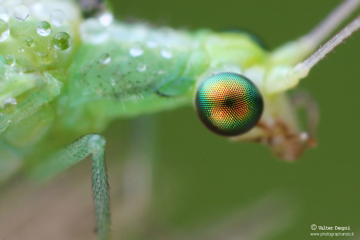
[[[248, 30], [271, 50], [309, 32], [340, 2], [112, 4], [116, 17], [126, 21]], [[113, 122], [104, 133], [113, 239], [303, 240], [319, 238], [311, 232], [342, 232], [313, 231], [312, 224], [350, 226], [343, 232], [354, 236], [338, 239], [360, 239], [360, 33], [346, 42], [300, 83], [318, 102], [320, 123], [318, 147], [298, 162], [276, 159], [260, 144], [214, 135], [193, 108]], [[13, 236], [26, 239], [95, 239], [90, 166], [90, 161], [80, 163], [40, 190], [16, 181], [5, 187], [2, 193], [8, 197], [1, 204], [10, 210], [3, 229], [12, 227]], [[25, 202], [22, 208], [14, 199]]]

